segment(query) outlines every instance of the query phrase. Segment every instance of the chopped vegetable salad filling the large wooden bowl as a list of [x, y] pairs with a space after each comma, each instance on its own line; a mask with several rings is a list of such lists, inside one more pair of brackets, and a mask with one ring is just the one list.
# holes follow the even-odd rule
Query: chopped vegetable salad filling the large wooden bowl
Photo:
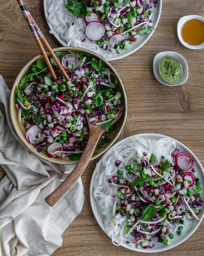
[[20, 123], [26, 128], [26, 139], [38, 152], [48, 157], [80, 158], [89, 130], [85, 113], [92, 125], [102, 124], [100, 145], [110, 142], [108, 130], [122, 108], [121, 92], [114, 73], [99, 58], [83, 52], [55, 52], [66, 69], [66, 81], [53, 58], [57, 82], [44, 60], [38, 59], [22, 77], [16, 88], [15, 106]]

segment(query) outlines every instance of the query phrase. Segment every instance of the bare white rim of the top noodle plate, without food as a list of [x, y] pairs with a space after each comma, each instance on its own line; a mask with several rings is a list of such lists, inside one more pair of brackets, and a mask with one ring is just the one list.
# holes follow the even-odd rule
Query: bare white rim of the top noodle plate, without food
[[[50, 28], [50, 30], [54, 30], [53, 26], [50, 24], [50, 22], [48, 22], [48, 13], [47, 13], [47, 2], [49, 0], [44, 0], [44, 13], [45, 13], [45, 17], [48, 23], [48, 26]], [[153, 2], [153, 1], [152, 1]], [[154, 4], [152, 6], [152, 10], [154, 11], [154, 14], [151, 18], [152, 22], [153, 22], [153, 27], [156, 28], [158, 22], [159, 22], [159, 18], [160, 18], [160, 14], [161, 14], [161, 10], [162, 10], [162, 0], [158, 0], [158, 4], [157, 7], [154, 7]], [[155, 30], [155, 29], [154, 29]], [[90, 49], [90, 47], [86, 47], [86, 46], [80, 46], [80, 45], [70, 45], [70, 46], [77, 46], [77, 47], [83, 47], [85, 49], [90, 49], [93, 52], [96, 52], [98, 54], [100, 54], [103, 58], [105, 58], [107, 61], [114, 61], [120, 58], [124, 58], [130, 54], [132, 54], [133, 52], [137, 51], [138, 49], [140, 49], [140, 47], [142, 47], [151, 37], [151, 35], [154, 33], [154, 30], [150, 31], [149, 34], [140, 36], [140, 38], [137, 39], [137, 41], [135, 43], [133, 43], [132, 45], [130, 45], [128, 50], [123, 50], [121, 52], [121, 54], [118, 54], [117, 52], [109, 55], [107, 54], [106, 50], [101, 51], [101, 53], [99, 53], [97, 50], [95, 49]], [[55, 38], [59, 41], [59, 43], [61, 43], [61, 45], [63, 46], [68, 46], [68, 42], [66, 40], [64, 40], [60, 34], [57, 33], [57, 31], [54, 34]], [[93, 45], [95, 45], [95, 43], [93, 42]]]

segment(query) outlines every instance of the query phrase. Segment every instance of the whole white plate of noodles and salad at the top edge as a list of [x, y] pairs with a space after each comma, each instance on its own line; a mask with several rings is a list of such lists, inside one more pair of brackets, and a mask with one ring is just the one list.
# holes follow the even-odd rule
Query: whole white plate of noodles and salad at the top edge
[[[125, 1], [128, 0], [110, 1], [108, 7], [105, 4], [104, 6], [99, 4], [98, 7], [88, 7], [88, 15], [93, 13], [91, 8], [96, 8], [97, 10], [97, 8], [104, 7], [111, 10], [108, 15], [107, 12], [103, 11], [107, 16], [102, 20], [96, 13], [86, 16], [86, 20], [90, 23], [85, 21], [84, 16], [77, 17], [66, 9], [64, 5], [68, 4], [67, 0], [44, 0], [44, 13], [50, 27], [50, 33], [55, 36], [61, 45], [89, 49], [100, 54], [107, 61], [113, 61], [128, 56], [142, 47], [154, 33], [161, 14], [162, 0], [131, 0], [130, 2], [128, 1], [127, 5], [124, 5]], [[113, 2], [118, 3], [116, 9], [112, 6]], [[97, 10], [98, 12], [99, 10]], [[129, 18], [127, 18], [127, 15], [129, 15]], [[115, 27], [116, 21], [119, 24], [117, 23], [118, 25]], [[103, 22], [104, 26], [101, 22]], [[140, 23], [141, 25], [139, 25]], [[99, 35], [100, 29], [103, 37]], [[129, 31], [131, 29], [135, 31]], [[126, 32], [127, 30], [129, 31], [128, 33]], [[100, 40], [98, 40], [100, 45], [97, 44], [96, 36], [100, 37]]]

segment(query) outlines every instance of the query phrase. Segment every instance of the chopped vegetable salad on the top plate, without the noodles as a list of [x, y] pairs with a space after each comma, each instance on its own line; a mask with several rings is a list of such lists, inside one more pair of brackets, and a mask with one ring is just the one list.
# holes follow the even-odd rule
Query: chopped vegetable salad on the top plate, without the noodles
[[156, 7], [157, 0], [68, 0], [65, 7], [75, 16], [84, 17], [84, 32], [90, 40], [102, 49], [120, 54], [154, 29], [152, 4]]

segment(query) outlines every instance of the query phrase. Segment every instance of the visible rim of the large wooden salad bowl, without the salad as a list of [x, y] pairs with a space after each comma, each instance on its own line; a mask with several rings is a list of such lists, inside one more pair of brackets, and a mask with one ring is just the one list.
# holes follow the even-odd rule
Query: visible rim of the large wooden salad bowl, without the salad
[[[123, 127], [125, 125], [125, 121], [127, 118], [127, 96], [126, 96], [126, 92], [125, 92], [125, 87], [123, 85], [123, 82], [120, 78], [120, 76], [118, 75], [118, 73], [116, 72], [116, 70], [114, 69], [114, 67], [108, 63], [104, 58], [102, 58], [101, 56], [99, 56], [98, 54], [91, 52], [87, 49], [83, 49], [83, 48], [78, 48], [78, 47], [58, 47], [53, 49], [53, 51], [60, 51], [60, 52], [67, 52], [68, 50], [75, 52], [86, 52], [88, 54], [91, 54], [94, 57], [100, 58], [103, 63], [105, 64], [105, 66], [107, 66], [110, 70], [112, 70], [118, 80], [118, 85], [122, 94], [122, 98], [125, 104], [124, 107], [124, 111], [123, 111], [123, 115], [121, 116], [121, 118], [115, 123], [116, 124], [116, 129], [111, 130], [109, 132], [109, 137], [111, 139], [110, 142], [106, 142], [105, 144], [103, 144], [103, 150], [101, 150], [99, 153], [94, 153], [91, 160], [96, 159], [97, 157], [103, 155], [103, 153], [105, 153], [106, 150], [108, 150], [116, 141], [116, 139], [118, 138], [118, 136], [121, 134], [121, 131], [123, 130]], [[46, 54], [49, 56], [49, 52], [46, 52]], [[13, 88], [11, 90], [11, 97], [10, 97], [10, 114], [11, 114], [11, 121], [13, 123], [13, 127], [15, 129], [15, 132], [17, 133], [18, 137], [20, 138], [20, 140], [23, 142], [23, 144], [33, 153], [35, 154], [37, 157], [40, 157], [48, 162], [52, 162], [55, 164], [76, 164], [78, 161], [72, 161], [70, 160], [68, 157], [62, 159], [62, 158], [55, 158], [55, 157], [48, 157], [46, 152], [37, 152], [37, 150], [35, 150], [34, 146], [32, 144], [30, 144], [25, 137], [26, 134], [26, 128], [24, 126], [22, 126], [22, 124], [20, 124], [19, 122], [19, 118], [18, 118], [18, 109], [15, 107], [15, 102], [14, 102], [14, 98], [16, 95], [16, 87], [19, 87], [19, 83], [22, 79], [22, 76], [30, 69], [31, 64], [35, 63], [35, 61], [37, 61], [37, 59], [43, 59], [42, 54], [37, 55], [35, 58], [33, 58], [31, 61], [29, 61], [29, 63], [27, 63], [22, 70], [20, 71], [20, 73], [18, 74], [17, 78], [15, 79], [15, 82], [13, 83]]]

